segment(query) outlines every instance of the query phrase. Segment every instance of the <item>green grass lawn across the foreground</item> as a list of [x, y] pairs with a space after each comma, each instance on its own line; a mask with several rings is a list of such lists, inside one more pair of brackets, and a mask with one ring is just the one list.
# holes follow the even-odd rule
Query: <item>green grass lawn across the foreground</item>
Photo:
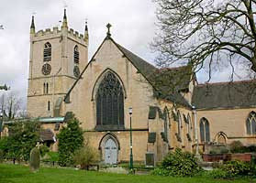
[[211, 183], [211, 182], [256, 182], [250, 179], [219, 180], [211, 178], [162, 178], [156, 176], [120, 175], [102, 172], [75, 170], [71, 168], [41, 167], [38, 173], [29, 172], [29, 167], [0, 164], [1, 183]]

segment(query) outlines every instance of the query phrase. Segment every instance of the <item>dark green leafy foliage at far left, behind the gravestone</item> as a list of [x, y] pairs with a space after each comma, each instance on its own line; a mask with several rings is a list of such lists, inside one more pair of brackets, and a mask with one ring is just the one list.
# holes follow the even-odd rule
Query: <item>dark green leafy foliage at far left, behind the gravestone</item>
[[39, 142], [40, 125], [35, 121], [9, 124], [9, 135], [0, 142], [0, 149], [9, 159], [28, 161], [30, 150]]

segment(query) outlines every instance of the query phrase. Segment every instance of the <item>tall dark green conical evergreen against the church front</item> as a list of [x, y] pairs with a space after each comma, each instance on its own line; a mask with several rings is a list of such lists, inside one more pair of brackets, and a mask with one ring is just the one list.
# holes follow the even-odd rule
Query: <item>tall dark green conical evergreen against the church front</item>
[[67, 126], [61, 128], [59, 139], [59, 164], [70, 166], [73, 164], [72, 155], [75, 150], [83, 146], [83, 130], [79, 121], [72, 117], [67, 121]]

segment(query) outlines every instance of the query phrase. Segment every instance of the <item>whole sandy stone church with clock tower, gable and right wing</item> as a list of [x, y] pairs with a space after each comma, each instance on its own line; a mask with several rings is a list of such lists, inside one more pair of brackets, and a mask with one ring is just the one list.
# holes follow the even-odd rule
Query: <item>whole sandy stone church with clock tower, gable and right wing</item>
[[107, 164], [128, 161], [130, 148], [134, 161], [154, 164], [175, 147], [256, 143], [255, 81], [198, 84], [189, 66], [159, 70], [119, 45], [109, 24], [91, 60], [88, 47], [87, 25], [74, 31], [66, 11], [61, 28], [36, 31], [32, 17], [28, 114], [52, 150], [70, 112]]

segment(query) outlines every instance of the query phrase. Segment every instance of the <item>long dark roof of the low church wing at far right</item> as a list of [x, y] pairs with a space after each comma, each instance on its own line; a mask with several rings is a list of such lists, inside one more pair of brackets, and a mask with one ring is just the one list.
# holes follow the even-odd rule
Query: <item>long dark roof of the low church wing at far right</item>
[[256, 106], [256, 81], [199, 84], [192, 103], [202, 110]]

